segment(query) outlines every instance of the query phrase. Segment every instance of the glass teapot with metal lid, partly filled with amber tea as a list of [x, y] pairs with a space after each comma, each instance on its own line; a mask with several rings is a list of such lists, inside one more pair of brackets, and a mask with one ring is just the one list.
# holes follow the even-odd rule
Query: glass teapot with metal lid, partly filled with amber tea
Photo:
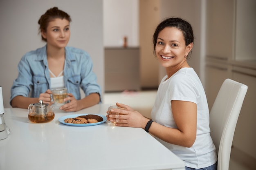
[[35, 123], [45, 123], [54, 119], [54, 106], [49, 106], [47, 103], [43, 103], [42, 100], [39, 103], [29, 104], [29, 120]]

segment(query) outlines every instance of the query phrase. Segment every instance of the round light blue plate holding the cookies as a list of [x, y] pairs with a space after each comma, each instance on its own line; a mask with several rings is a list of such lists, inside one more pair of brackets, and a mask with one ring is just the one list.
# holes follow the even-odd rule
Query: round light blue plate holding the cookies
[[79, 116], [84, 116], [84, 115], [97, 115], [97, 114], [77, 114], [77, 115], [67, 115], [67, 116], [63, 116], [58, 118], [58, 121], [61, 122], [62, 124], [65, 125], [70, 125], [70, 126], [94, 126], [94, 125], [99, 125], [99, 124], [103, 124], [106, 120], [107, 117], [103, 116], [103, 115], [97, 115], [103, 118], [103, 121], [97, 122], [97, 123], [91, 123], [91, 124], [69, 124], [66, 123], [64, 120], [67, 118], [75, 118], [75, 117], [79, 117]]

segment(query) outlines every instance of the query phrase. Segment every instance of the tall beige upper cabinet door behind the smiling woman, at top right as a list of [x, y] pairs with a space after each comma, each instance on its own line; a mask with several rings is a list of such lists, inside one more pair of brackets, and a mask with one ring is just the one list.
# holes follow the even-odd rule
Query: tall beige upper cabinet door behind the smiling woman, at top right
[[233, 53], [235, 0], [207, 0], [207, 55], [227, 60]]

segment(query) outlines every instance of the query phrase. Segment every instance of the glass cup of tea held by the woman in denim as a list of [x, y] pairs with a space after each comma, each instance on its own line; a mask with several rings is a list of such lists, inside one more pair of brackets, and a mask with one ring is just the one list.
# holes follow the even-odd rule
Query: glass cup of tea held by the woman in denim
[[52, 98], [54, 101], [54, 104], [58, 106], [62, 106], [67, 103], [67, 101], [64, 101], [68, 97], [67, 95], [67, 88], [55, 88], [52, 90]]

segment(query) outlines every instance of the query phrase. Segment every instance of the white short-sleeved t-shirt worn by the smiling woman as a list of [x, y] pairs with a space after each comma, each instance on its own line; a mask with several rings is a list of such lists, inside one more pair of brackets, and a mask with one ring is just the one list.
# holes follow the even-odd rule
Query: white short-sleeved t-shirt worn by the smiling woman
[[[205, 168], [217, 161], [216, 148], [209, 128], [209, 108], [202, 83], [193, 68], [181, 68], [173, 76], [162, 79], [157, 90], [151, 118], [158, 124], [177, 128], [171, 110], [172, 100], [189, 101], [197, 104], [197, 132], [191, 148], [169, 144], [161, 139], [164, 146], [185, 161], [185, 166]], [[164, 81], [165, 80], [165, 81]]]

